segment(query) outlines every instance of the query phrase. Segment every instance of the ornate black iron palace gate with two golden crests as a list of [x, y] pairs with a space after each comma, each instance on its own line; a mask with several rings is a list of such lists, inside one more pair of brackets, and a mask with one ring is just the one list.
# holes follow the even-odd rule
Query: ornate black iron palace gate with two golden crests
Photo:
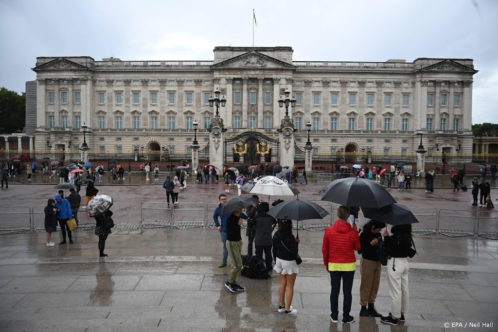
[[225, 137], [223, 160], [229, 165], [277, 165], [280, 162], [280, 138], [260, 129], [244, 129]]

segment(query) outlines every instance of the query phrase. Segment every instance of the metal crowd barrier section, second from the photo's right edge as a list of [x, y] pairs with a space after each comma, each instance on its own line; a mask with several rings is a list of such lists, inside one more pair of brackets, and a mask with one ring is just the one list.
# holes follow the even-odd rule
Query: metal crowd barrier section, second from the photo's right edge
[[439, 233], [457, 237], [476, 233], [477, 213], [464, 210], [439, 210], [437, 230]]

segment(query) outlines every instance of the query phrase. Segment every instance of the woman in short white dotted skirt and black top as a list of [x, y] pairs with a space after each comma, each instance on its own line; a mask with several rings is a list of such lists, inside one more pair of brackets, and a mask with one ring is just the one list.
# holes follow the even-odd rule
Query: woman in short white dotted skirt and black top
[[[280, 303], [279, 313], [296, 315], [297, 310], [291, 307], [294, 296], [294, 283], [297, 276], [296, 255], [298, 253], [299, 237], [292, 234], [292, 221], [281, 221], [275, 235], [273, 235], [273, 270], [280, 274], [280, 288], [278, 290]], [[287, 294], [287, 302], [285, 302]]]

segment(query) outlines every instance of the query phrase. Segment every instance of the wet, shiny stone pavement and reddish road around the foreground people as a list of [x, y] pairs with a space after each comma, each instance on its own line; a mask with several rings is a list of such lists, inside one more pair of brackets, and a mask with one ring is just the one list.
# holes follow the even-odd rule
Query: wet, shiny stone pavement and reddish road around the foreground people
[[[139, 221], [140, 202], [165, 202], [159, 185], [97, 187], [115, 199], [115, 221]], [[298, 184], [299, 197], [318, 201], [321, 188]], [[13, 183], [0, 191], [0, 207], [44, 206], [56, 192], [50, 185]], [[190, 182], [180, 192], [180, 206], [216, 203], [222, 192], [221, 183]], [[412, 208], [480, 210], [470, 205], [470, 192], [392, 189], [391, 194]], [[235, 189], [229, 198], [234, 195]], [[215, 229], [115, 229], [105, 258], [97, 257], [92, 230], [77, 230], [74, 244], [51, 248], [43, 232], [0, 234], [0, 331], [463, 331], [451, 328], [460, 323], [498, 331], [498, 241], [417, 236], [418, 255], [409, 260], [410, 312], [406, 322], [393, 327], [359, 317], [359, 268], [353, 285], [355, 323], [331, 323], [323, 231], [300, 230], [299, 237], [304, 262], [292, 302], [298, 314], [289, 317], [277, 312], [278, 277], [239, 276], [246, 291], [237, 294], [224, 287], [230, 267], [218, 268], [222, 248]], [[58, 243], [60, 233], [52, 240]], [[375, 306], [384, 315], [390, 311], [385, 268]], [[493, 327], [483, 328], [483, 322]]]

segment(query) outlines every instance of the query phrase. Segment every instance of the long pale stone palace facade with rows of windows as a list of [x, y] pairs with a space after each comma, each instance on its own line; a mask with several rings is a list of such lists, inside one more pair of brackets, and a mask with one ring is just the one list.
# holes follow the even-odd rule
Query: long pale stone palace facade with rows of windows
[[307, 142], [309, 122], [318, 153], [410, 153], [420, 134], [428, 151], [472, 152], [472, 59], [294, 61], [292, 53], [215, 47], [208, 61], [39, 57], [36, 81], [26, 83], [26, 126], [36, 149], [78, 149], [85, 123], [93, 150], [186, 151], [194, 121], [199, 144], [209, 142], [216, 89], [227, 100], [220, 108], [227, 135], [276, 132], [285, 115], [278, 100], [288, 89], [296, 146]]

